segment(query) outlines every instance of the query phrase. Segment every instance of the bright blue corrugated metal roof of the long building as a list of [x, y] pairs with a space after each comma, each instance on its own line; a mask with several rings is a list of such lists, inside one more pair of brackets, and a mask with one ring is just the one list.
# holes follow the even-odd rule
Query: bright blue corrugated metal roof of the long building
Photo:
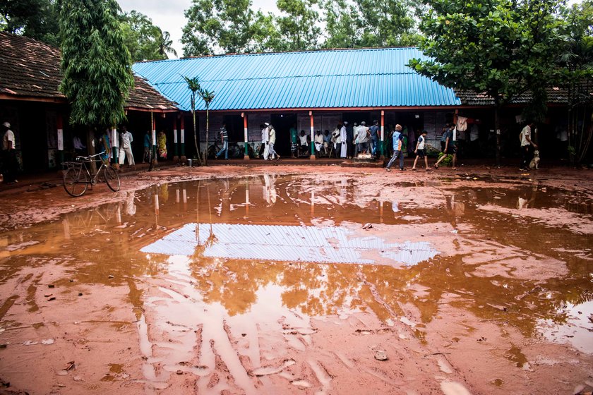
[[[417, 48], [209, 56], [136, 63], [133, 70], [190, 110], [183, 76], [215, 92], [212, 110], [457, 106], [452, 89], [414, 73]], [[201, 100], [196, 109], [205, 109]]]

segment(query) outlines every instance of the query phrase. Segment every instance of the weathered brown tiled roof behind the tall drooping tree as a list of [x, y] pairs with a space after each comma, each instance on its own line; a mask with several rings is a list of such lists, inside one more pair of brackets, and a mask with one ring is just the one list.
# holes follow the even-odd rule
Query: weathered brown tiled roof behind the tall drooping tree
[[[66, 102], [59, 92], [60, 51], [35, 39], [0, 32], [0, 95], [14, 99], [39, 98]], [[143, 78], [134, 76], [126, 107], [131, 109], [176, 110]]]

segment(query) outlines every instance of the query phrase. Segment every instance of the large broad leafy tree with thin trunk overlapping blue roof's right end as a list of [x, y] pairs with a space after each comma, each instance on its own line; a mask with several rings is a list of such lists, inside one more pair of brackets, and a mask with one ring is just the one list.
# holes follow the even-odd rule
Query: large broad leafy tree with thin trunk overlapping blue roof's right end
[[[496, 163], [501, 163], [499, 111], [518, 96], [558, 80], [563, 22], [556, 0], [429, 0], [415, 71], [494, 101]], [[539, 96], [540, 100], [545, 100]]]

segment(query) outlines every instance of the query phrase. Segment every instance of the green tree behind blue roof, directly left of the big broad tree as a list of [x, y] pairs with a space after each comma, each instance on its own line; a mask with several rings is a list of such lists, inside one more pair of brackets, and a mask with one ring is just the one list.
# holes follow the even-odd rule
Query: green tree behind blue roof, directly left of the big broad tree
[[360, 47], [416, 45], [413, 9], [404, 0], [355, 0]]

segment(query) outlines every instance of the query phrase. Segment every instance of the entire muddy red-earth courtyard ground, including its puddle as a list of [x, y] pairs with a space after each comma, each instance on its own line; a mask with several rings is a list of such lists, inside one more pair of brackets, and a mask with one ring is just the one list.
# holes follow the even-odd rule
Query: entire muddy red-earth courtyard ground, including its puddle
[[0, 192], [0, 394], [585, 394], [591, 171], [173, 167]]

